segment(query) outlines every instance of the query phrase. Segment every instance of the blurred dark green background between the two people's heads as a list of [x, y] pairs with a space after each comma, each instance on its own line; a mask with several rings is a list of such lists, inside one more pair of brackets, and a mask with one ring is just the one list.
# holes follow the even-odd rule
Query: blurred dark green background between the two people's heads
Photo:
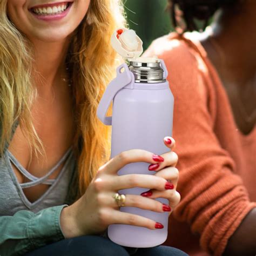
[[123, 4], [129, 27], [142, 39], [144, 50], [153, 39], [173, 30], [167, 0], [123, 0]]

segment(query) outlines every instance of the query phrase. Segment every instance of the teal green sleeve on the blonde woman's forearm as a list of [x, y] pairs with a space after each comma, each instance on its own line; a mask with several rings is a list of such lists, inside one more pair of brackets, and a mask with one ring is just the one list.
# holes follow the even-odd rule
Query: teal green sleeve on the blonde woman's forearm
[[45, 208], [38, 213], [18, 211], [0, 217], [0, 255], [23, 255], [38, 247], [64, 239], [59, 217], [68, 205]]

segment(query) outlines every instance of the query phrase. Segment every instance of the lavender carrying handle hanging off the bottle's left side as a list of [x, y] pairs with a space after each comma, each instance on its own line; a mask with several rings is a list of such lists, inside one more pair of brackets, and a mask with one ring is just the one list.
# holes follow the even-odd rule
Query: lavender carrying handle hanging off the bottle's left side
[[[124, 70], [123, 70], [124, 69]], [[122, 72], [123, 71], [123, 72]], [[100, 99], [97, 117], [105, 125], [112, 124], [112, 117], [106, 117], [106, 112], [109, 109], [111, 100], [114, 98], [116, 93], [121, 90], [124, 86], [132, 82], [132, 73], [128, 66], [124, 63], [117, 68], [117, 77], [114, 78], [110, 84], [106, 87], [106, 90]]]

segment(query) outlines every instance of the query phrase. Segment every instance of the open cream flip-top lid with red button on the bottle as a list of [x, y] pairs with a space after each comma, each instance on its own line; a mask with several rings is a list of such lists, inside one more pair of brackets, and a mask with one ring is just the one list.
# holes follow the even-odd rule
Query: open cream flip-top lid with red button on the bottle
[[158, 62], [158, 58], [139, 57], [143, 52], [143, 42], [132, 29], [118, 28], [113, 32], [111, 45], [119, 55], [130, 61]]

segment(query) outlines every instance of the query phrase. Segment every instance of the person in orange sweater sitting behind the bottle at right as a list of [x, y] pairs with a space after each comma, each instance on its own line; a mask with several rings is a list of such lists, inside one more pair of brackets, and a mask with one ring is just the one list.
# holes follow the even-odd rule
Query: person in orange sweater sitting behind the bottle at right
[[[153, 41], [169, 70], [181, 202], [164, 245], [256, 253], [256, 1], [171, 1], [177, 32]], [[177, 8], [177, 6], [179, 8]], [[202, 33], [193, 18], [207, 21]]]

